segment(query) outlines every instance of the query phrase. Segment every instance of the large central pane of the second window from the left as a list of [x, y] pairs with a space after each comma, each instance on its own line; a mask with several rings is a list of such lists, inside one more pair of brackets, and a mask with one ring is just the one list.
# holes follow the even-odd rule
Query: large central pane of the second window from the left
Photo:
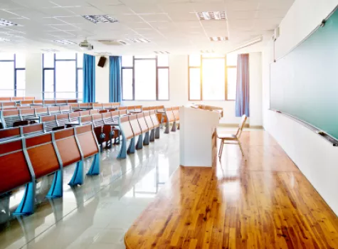
[[56, 61], [56, 98], [76, 98], [75, 61]]

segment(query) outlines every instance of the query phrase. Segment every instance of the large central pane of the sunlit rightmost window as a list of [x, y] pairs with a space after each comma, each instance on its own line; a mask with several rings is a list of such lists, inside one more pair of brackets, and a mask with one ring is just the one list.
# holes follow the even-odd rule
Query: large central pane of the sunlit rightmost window
[[225, 100], [226, 98], [225, 59], [203, 60], [203, 99]]

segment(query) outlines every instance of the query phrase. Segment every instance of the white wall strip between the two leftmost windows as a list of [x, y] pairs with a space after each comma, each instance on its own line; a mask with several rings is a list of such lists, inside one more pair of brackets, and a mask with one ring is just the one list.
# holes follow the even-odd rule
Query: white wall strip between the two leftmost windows
[[42, 99], [42, 55], [26, 54], [26, 96]]

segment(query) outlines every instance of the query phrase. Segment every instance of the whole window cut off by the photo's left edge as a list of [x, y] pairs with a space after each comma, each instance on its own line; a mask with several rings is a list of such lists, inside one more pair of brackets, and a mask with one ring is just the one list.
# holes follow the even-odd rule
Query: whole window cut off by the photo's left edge
[[0, 53], [0, 96], [23, 97], [26, 92], [26, 56]]

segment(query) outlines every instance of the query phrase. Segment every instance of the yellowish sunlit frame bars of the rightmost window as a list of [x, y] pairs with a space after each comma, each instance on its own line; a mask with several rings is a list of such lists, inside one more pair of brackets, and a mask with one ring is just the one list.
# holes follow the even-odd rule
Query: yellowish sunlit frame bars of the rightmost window
[[[226, 55], [224, 57], [203, 57], [203, 55], [200, 55], [200, 65], [190, 65], [189, 63], [190, 55], [188, 55], [188, 100], [189, 101], [235, 101], [235, 100], [229, 100], [228, 99], [228, 68], [237, 68], [237, 65], [228, 65], [227, 64], [227, 58]], [[225, 62], [225, 97], [224, 100], [204, 100], [203, 99], [203, 60], [212, 60], [212, 59], [224, 59]], [[190, 69], [191, 68], [197, 68], [199, 69], [200, 73], [200, 88], [201, 88], [201, 97], [199, 100], [194, 100], [190, 98]]]

